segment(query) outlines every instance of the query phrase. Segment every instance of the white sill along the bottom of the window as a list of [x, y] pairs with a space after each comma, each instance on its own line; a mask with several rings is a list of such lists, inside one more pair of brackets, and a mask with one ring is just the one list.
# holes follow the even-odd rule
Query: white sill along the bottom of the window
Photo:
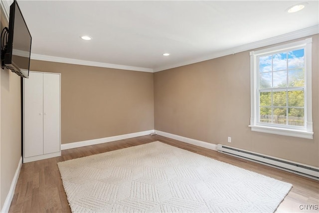
[[249, 127], [251, 127], [251, 131], [255, 131], [255, 132], [264, 132], [264, 133], [270, 133], [270, 134], [276, 134], [276, 135], [285, 135], [285, 136], [292, 136], [292, 137], [298, 137], [298, 138], [314, 139], [313, 132], [308, 132], [304, 130], [258, 126], [258, 125], [249, 125]]

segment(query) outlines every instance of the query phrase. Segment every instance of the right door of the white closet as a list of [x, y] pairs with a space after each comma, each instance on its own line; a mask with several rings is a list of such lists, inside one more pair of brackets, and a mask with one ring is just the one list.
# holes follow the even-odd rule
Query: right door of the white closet
[[60, 152], [60, 75], [43, 73], [44, 154]]

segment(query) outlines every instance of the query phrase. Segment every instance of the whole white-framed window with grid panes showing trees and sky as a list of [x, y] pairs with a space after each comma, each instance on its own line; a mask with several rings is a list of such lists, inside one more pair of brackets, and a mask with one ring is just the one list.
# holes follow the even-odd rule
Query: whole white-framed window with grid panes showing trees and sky
[[312, 38], [250, 52], [252, 131], [313, 139]]

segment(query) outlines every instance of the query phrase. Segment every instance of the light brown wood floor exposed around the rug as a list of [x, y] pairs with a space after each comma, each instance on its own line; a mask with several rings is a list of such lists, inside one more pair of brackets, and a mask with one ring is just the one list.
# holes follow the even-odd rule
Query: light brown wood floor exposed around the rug
[[277, 180], [291, 183], [293, 184], [292, 190], [280, 204], [276, 212], [318, 213], [319, 181], [158, 135], [142, 136], [105, 144], [63, 150], [61, 157], [23, 164], [9, 213], [70, 213], [71, 210], [68, 206], [61, 176], [57, 167], [58, 162], [154, 141], [170, 144]]

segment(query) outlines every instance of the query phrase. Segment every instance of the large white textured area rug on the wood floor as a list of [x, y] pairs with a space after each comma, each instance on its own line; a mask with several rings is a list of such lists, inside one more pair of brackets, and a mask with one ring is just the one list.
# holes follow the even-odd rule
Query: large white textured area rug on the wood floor
[[274, 212], [292, 188], [159, 141], [58, 167], [73, 213]]

